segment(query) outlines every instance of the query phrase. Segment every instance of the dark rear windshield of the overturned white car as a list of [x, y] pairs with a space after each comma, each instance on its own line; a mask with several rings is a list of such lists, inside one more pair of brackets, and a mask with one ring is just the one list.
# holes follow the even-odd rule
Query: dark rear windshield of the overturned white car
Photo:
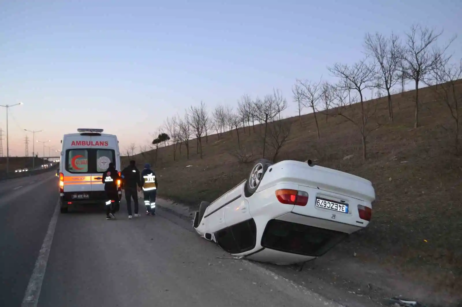
[[292, 254], [319, 257], [348, 234], [340, 231], [272, 219], [268, 222], [261, 246]]

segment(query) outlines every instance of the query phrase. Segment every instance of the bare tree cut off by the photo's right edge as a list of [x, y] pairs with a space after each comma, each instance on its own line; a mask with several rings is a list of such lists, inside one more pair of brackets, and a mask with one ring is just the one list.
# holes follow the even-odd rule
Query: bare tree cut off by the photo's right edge
[[454, 147], [456, 153], [460, 153], [462, 150], [459, 146], [462, 112], [459, 108], [461, 107], [462, 94], [456, 90], [456, 84], [460, 83], [458, 80], [462, 78], [462, 60], [457, 65], [448, 65], [447, 61], [440, 61], [433, 68], [433, 76], [437, 78], [436, 82], [438, 80], [441, 82], [439, 89], [435, 87], [435, 90], [438, 100], [448, 107], [451, 118], [454, 120]]

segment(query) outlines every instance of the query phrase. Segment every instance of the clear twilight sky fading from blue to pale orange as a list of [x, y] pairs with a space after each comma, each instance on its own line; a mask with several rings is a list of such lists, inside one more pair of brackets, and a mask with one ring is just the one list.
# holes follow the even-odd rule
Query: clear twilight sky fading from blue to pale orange
[[[45, 130], [36, 140], [53, 149], [77, 128], [146, 145], [192, 104], [273, 87], [295, 115], [295, 79], [333, 81], [326, 67], [359, 60], [367, 32], [444, 29], [460, 58], [461, 14], [460, 0], [0, 0], [0, 105], [24, 103], [9, 111], [10, 155], [24, 155], [24, 129]], [[5, 117], [0, 107], [3, 130]]]

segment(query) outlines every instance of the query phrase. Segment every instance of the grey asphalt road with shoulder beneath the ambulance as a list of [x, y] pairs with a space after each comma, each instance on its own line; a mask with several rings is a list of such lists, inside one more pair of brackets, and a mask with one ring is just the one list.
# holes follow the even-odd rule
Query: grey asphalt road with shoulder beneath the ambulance
[[254, 263], [218, 258], [230, 255], [166, 211], [129, 220], [122, 201], [117, 220], [97, 208], [61, 214], [54, 176], [1, 184], [2, 307], [337, 306]]

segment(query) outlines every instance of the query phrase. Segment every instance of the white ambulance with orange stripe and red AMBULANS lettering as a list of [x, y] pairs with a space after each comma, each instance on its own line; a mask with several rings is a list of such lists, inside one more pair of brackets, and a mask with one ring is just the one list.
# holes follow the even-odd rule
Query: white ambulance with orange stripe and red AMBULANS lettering
[[[61, 140], [59, 172], [59, 201], [61, 213], [79, 204], [104, 204], [107, 196], [102, 181], [103, 172], [114, 163], [121, 171], [117, 136], [103, 133], [103, 129], [77, 129]], [[122, 198], [117, 182], [119, 200]], [[119, 208], [116, 208], [118, 211]]]

